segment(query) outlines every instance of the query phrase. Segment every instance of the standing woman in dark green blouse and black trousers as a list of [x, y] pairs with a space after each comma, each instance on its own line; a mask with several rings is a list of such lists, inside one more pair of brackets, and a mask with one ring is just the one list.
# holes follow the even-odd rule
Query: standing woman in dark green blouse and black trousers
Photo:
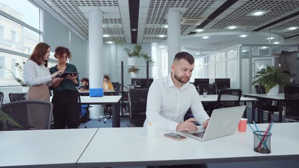
[[66, 122], [68, 129], [77, 129], [79, 117], [77, 99], [77, 87], [79, 86], [78, 71], [76, 66], [67, 63], [67, 59], [71, 57], [67, 48], [61, 46], [56, 47], [54, 56], [58, 59], [58, 64], [51, 67], [51, 74], [57, 71], [68, 73], [65, 76], [62, 73], [60, 75], [62, 77], [52, 86], [55, 129], [65, 129]]

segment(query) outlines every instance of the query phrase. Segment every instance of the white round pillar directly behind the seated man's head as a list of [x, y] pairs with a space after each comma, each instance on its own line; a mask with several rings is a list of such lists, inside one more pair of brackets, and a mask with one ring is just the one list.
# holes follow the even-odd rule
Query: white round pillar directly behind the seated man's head
[[168, 49], [168, 73], [171, 72], [174, 56], [180, 52], [180, 12], [168, 11], [167, 14], [167, 49]]

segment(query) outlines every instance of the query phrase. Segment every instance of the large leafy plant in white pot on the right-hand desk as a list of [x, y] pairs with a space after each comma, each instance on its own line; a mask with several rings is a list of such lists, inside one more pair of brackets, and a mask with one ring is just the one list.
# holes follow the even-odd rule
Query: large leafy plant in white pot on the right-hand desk
[[257, 80], [252, 81], [252, 85], [263, 85], [269, 96], [277, 96], [279, 86], [284, 87], [290, 81], [289, 75], [283, 73], [280, 68], [269, 65], [267, 65], [266, 69], [261, 69], [261, 71], [257, 72], [253, 78], [257, 78]]

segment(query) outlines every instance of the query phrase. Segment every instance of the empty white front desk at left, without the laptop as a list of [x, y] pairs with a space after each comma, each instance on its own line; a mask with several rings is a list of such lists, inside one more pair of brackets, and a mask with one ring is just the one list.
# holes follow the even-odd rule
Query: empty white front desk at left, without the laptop
[[0, 167], [76, 167], [98, 129], [0, 132]]

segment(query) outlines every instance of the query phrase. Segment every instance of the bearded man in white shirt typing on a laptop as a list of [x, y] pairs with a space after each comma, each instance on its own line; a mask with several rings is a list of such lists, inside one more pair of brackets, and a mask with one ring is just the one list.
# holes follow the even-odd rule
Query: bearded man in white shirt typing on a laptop
[[[192, 121], [207, 127], [209, 116], [204, 110], [196, 88], [188, 81], [194, 70], [194, 57], [187, 52], [177, 53], [171, 65], [172, 72], [155, 80], [149, 88], [146, 120], [143, 127], [157, 123], [158, 128], [169, 131], [198, 131]], [[195, 118], [183, 121], [191, 108]]]

